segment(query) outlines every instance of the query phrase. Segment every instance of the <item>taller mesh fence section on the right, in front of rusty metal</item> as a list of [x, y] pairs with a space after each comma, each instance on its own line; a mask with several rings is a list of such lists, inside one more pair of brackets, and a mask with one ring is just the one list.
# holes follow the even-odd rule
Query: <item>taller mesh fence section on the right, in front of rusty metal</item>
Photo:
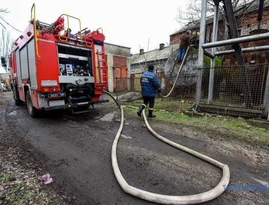
[[243, 117], [266, 114], [269, 64], [201, 69], [200, 109]]

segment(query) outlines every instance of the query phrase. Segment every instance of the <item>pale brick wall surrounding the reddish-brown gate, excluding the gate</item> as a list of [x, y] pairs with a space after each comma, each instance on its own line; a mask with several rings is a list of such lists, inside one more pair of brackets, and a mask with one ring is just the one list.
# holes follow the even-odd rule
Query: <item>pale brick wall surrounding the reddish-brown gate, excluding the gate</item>
[[107, 55], [107, 65], [108, 65], [108, 74], [109, 74], [109, 91], [113, 91], [113, 56], [122, 56], [126, 57], [127, 68], [128, 68], [128, 77], [131, 75], [131, 64], [130, 64], [130, 47], [119, 46], [114, 44], [105, 43], [105, 53]]

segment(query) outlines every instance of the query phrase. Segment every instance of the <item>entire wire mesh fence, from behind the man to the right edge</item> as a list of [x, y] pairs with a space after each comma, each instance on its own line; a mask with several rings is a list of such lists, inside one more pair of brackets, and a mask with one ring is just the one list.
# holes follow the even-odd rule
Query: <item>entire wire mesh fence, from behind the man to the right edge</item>
[[[179, 76], [175, 89], [167, 98], [156, 95], [155, 109], [166, 111], [193, 110], [197, 92], [200, 92], [198, 110], [213, 114], [265, 118], [269, 108], [269, 64], [198, 68], [198, 75]], [[193, 72], [195, 73], [195, 72]], [[196, 72], [198, 73], [198, 72]], [[162, 94], [167, 94], [175, 76], [158, 76]], [[202, 80], [201, 90], [197, 82]], [[114, 95], [123, 105], [138, 107], [142, 102], [140, 76], [117, 78]]]

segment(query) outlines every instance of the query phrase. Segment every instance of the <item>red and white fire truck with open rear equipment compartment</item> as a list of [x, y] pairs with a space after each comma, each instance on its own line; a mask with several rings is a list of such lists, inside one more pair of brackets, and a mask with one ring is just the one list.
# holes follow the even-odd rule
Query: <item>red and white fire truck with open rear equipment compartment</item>
[[[71, 34], [70, 19], [79, 23]], [[35, 19], [14, 42], [9, 56], [11, 85], [15, 104], [26, 102], [29, 114], [39, 110], [70, 109], [88, 112], [90, 105], [103, 103], [107, 89], [107, 66], [102, 28], [81, 30], [80, 20], [67, 14], [54, 23]]]

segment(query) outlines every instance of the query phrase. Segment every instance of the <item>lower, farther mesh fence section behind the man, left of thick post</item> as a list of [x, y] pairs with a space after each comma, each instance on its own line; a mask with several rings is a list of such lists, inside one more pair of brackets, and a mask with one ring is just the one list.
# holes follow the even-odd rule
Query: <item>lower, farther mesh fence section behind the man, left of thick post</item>
[[[176, 80], [176, 77], [158, 77], [162, 94], [167, 94]], [[177, 85], [171, 95], [162, 98], [156, 95], [155, 106], [157, 110], [186, 111], [194, 106], [196, 89], [196, 76], [179, 77]], [[140, 106], [142, 102], [140, 78], [118, 78], [115, 93], [117, 100], [124, 105]]]

